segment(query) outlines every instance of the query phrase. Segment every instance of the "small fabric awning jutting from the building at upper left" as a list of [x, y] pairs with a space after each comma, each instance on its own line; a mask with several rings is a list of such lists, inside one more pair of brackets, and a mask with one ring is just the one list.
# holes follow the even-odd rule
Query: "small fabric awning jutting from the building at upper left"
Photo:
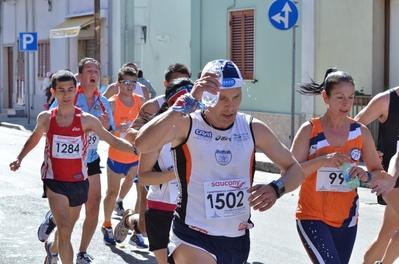
[[81, 28], [94, 22], [94, 16], [71, 17], [50, 30], [50, 38], [71, 38], [79, 35]]

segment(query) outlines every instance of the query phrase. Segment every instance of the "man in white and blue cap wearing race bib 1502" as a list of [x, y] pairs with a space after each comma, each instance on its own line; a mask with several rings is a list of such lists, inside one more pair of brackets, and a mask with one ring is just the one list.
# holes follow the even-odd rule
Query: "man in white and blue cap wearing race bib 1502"
[[[265, 211], [296, 189], [304, 173], [290, 151], [263, 122], [238, 112], [242, 77], [229, 60], [218, 75], [203, 70], [190, 93], [144, 125], [136, 138], [142, 153], [171, 143], [179, 196], [172, 223], [169, 263], [246, 263], [251, 207]], [[220, 92], [206, 109], [204, 91]], [[270, 184], [252, 186], [255, 150], [282, 169]]]

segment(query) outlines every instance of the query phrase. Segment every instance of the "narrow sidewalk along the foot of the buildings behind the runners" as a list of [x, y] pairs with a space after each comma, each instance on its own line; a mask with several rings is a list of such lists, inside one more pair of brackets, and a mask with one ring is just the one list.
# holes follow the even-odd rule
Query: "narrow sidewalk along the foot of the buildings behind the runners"
[[[0, 126], [29, 132], [33, 131], [36, 126], [36, 117], [31, 118], [29, 122], [27, 117], [0, 117]], [[274, 163], [272, 163], [265, 154], [257, 152], [255, 153], [255, 159], [256, 170], [280, 173], [280, 169]]]

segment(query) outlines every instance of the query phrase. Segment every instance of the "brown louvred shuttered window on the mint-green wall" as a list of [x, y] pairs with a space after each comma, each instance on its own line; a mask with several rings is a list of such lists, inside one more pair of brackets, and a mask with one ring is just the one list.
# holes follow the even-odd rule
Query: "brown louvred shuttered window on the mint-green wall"
[[254, 10], [230, 12], [230, 59], [244, 79], [254, 78]]

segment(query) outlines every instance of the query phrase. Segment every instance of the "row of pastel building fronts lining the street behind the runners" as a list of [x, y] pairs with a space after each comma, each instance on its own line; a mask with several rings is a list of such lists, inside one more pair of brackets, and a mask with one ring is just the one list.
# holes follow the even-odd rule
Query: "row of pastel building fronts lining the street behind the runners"
[[[0, 2], [1, 109], [36, 116], [45, 73], [77, 72], [79, 60], [93, 56], [93, 2]], [[325, 110], [321, 98], [293, 93], [296, 83], [322, 82], [326, 69], [337, 67], [365, 94], [398, 85], [399, 0], [301, 0], [288, 30], [270, 22], [274, 2], [102, 0], [101, 74], [114, 81], [119, 67], [134, 61], [162, 94], [168, 65], [186, 64], [195, 79], [208, 61], [232, 59], [245, 79], [240, 110], [265, 121], [286, 146], [301, 123]], [[37, 32], [38, 51], [19, 51], [20, 32]]]

